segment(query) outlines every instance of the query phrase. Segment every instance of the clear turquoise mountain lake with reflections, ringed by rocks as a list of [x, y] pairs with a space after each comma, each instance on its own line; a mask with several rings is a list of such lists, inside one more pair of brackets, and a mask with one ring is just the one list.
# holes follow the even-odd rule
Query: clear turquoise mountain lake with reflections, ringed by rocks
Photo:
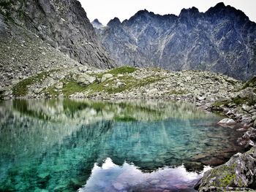
[[1, 101], [0, 191], [194, 191], [241, 151], [220, 119], [173, 101]]

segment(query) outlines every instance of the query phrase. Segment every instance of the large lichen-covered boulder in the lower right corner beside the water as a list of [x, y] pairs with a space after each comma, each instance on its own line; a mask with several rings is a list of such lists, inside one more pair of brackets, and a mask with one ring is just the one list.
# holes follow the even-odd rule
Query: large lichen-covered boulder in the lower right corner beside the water
[[200, 192], [224, 191], [227, 187], [249, 188], [256, 182], [256, 147], [248, 152], [237, 153], [226, 164], [217, 166], [203, 174], [202, 179], [196, 184]]

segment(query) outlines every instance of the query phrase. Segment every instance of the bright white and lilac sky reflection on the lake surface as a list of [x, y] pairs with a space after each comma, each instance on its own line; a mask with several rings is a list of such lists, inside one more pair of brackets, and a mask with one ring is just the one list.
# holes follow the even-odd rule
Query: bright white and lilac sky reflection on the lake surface
[[[205, 166], [203, 172], [208, 169], [211, 168]], [[203, 172], [187, 172], [182, 165], [145, 173], [134, 164], [118, 166], [107, 158], [102, 166], [94, 164], [91, 177], [79, 191], [195, 191], [193, 185]]]

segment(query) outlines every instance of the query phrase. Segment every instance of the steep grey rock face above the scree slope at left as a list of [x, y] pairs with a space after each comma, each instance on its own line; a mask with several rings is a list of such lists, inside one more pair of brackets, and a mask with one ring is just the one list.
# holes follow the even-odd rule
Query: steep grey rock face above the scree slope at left
[[1, 0], [0, 13], [80, 64], [112, 65], [77, 0]]

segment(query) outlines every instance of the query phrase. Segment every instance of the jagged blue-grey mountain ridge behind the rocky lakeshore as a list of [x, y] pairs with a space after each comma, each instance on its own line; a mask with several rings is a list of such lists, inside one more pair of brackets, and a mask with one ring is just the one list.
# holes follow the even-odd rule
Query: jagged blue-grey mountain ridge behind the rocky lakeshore
[[178, 16], [140, 10], [97, 33], [120, 66], [206, 70], [239, 80], [256, 74], [256, 23], [223, 3], [204, 13], [182, 9]]

